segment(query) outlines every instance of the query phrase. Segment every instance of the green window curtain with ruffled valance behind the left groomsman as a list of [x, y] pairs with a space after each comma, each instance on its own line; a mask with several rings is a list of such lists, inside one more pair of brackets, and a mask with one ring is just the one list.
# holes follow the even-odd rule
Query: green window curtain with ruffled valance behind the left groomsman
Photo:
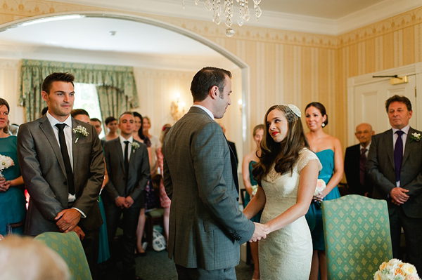
[[96, 84], [103, 119], [110, 115], [117, 118], [125, 110], [138, 107], [133, 67], [22, 60], [19, 102], [25, 107], [26, 121], [39, 118], [46, 106], [41, 98], [41, 85], [53, 72], [69, 72], [75, 76], [75, 83]]

